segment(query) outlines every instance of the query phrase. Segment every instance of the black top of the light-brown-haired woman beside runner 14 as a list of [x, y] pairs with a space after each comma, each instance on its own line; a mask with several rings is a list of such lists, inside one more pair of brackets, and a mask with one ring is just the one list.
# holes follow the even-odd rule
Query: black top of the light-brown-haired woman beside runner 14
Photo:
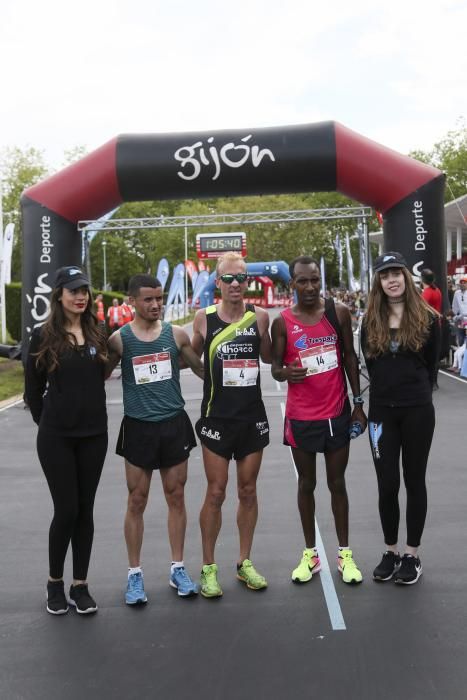
[[440, 328], [433, 316], [428, 336], [419, 352], [401, 347], [395, 333], [387, 352], [368, 357], [365, 323], [362, 352], [370, 375], [370, 406], [421, 406], [431, 403], [438, 363]]

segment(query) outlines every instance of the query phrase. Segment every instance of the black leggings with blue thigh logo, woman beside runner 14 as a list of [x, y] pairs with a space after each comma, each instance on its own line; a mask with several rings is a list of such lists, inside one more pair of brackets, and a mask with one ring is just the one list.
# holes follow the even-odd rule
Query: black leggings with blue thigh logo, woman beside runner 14
[[426, 466], [434, 429], [435, 410], [431, 403], [404, 408], [370, 405], [368, 434], [378, 477], [379, 514], [387, 545], [394, 545], [398, 540], [401, 450], [407, 489], [407, 545], [420, 545], [427, 511]]

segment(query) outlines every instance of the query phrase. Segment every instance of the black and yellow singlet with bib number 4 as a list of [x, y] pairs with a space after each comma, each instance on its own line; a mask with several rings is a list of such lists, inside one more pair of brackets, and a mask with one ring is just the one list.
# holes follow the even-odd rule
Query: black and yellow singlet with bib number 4
[[208, 306], [202, 416], [234, 420], [266, 416], [260, 386], [260, 343], [252, 304], [245, 305], [243, 318], [235, 323], [222, 321], [216, 306]]

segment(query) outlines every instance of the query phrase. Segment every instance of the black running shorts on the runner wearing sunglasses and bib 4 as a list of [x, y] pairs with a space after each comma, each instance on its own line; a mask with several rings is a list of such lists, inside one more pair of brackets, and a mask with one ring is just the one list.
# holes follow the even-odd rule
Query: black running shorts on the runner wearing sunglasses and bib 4
[[269, 445], [269, 423], [262, 420], [234, 421], [200, 418], [195, 425], [200, 441], [211, 452], [236, 461]]

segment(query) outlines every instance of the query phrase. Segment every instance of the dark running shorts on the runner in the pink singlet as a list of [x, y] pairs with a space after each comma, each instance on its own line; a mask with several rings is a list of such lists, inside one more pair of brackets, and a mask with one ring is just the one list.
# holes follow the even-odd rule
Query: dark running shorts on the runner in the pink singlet
[[348, 444], [350, 411], [345, 410], [337, 418], [329, 420], [284, 421], [284, 445], [297, 447], [304, 452], [332, 452]]

